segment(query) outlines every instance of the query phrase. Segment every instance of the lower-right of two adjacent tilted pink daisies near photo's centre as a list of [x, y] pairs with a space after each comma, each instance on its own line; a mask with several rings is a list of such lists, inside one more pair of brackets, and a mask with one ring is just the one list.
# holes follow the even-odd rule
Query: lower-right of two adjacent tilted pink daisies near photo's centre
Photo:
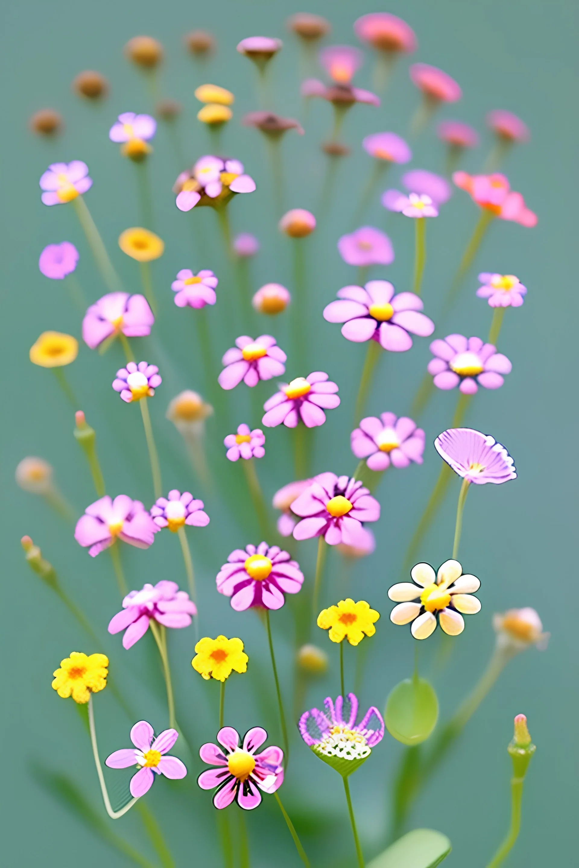
[[282, 422], [286, 428], [295, 428], [299, 419], [306, 428], [315, 428], [326, 422], [322, 409], [334, 410], [339, 406], [338, 386], [328, 380], [323, 371], [314, 371], [309, 377], [298, 377], [291, 383], [280, 383], [280, 391], [263, 405], [266, 415], [261, 423], [275, 428]]

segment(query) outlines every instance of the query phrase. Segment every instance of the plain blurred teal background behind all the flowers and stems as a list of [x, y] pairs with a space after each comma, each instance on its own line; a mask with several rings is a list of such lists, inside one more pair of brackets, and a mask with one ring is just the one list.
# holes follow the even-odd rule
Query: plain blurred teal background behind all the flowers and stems
[[[463, 739], [423, 792], [411, 826], [426, 825], [445, 832], [454, 851], [446, 864], [485, 865], [508, 822], [510, 760], [506, 745], [514, 714], [524, 712], [537, 745], [528, 776], [523, 832], [510, 857], [510, 865], [571, 865], [576, 853], [576, 402], [571, 374], [576, 367], [576, 291], [572, 256], [576, 250], [576, 141], [575, 110], [576, 8], [564, 0], [426, 0], [391, 3], [389, 10], [404, 16], [417, 31], [420, 47], [412, 60], [431, 62], [457, 78], [464, 98], [444, 109], [441, 116], [456, 117], [477, 126], [482, 143], [464, 161], [477, 171], [490, 148], [484, 133], [484, 114], [493, 108], [512, 109], [529, 123], [530, 144], [517, 148], [505, 171], [512, 186], [523, 192], [539, 216], [535, 229], [499, 222], [491, 227], [483, 251], [464, 286], [444, 333], [484, 336], [490, 308], [474, 295], [477, 270], [516, 273], [529, 287], [524, 306], [506, 312], [500, 349], [513, 362], [513, 372], [499, 391], [481, 390], [472, 402], [467, 423], [505, 444], [515, 458], [519, 477], [497, 488], [486, 486], [470, 493], [464, 520], [461, 560], [482, 579], [483, 610], [468, 621], [456, 641], [451, 662], [436, 665], [438, 638], [420, 648], [421, 674], [436, 684], [441, 715], [447, 716], [481, 673], [490, 655], [491, 615], [512, 606], [530, 605], [550, 631], [549, 649], [521, 654], [504, 672], [488, 700], [471, 720]], [[16, 488], [14, 469], [26, 455], [45, 457], [56, 468], [64, 494], [82, 511], [94, 499], [81, 450], [72, 438], [74, 418], [51, 372], [30, 365], [28, 351], [46, 329], [71, 332], [80, 338], [80, 315], [69, 303], [65, 287], [45, 279], [37, 269], [43, 247], [71, 240], [81, 253], [77, 275], [90, 300], [106, 290], [95, 271], [89, 248], [71, 207], [41, 205], [37, 180], [52, 161], [82, 159], [89, 165], [94, 186], [86, 197], [125, 285], [140, 292], [135, 263], [116, 247], [119, 233], [140, 223], [133, 166], [118, 155], [108, 140], [115, 116], [124, 110], [148, 111], [151, 102], [142, 77], [122, 56], [122, 45], [137, 33], [156, 36], [165, 45], [163, 95], [181, 100], [184, 113], [180, 135], [188, 164], [209, 150], [206, 131], [194, 115], [198, 104], [194, 88], [205, 81], [219, 83], [236, 95], [234, 121], [225, 131], [223, 149], [244, 161], [257, 181], [255, 194], [239, 196], [230, 207], [235, 231], [256, 233], [261, 251], [252, 264], [254, 288], [269, 281], [290, 286], [291, 247], [276, 229], [279, 214], [273, 209], [271, 174], [260, 135], [240, 127], [240, 118], [256, 108], [254, 70], [239, 56], [235, 45], [244, 36], [265, 33], [282, 36], [286, 45], [272, 66], [274, 108], [284, 115], [301, 116], [296, 46], [284, 28], [286, 16], [296, 9], [288, 3], [221, 2], [211, 6], [181, 0], [162, 5], [111, 2], [51, 3], [23, 0], [3, 9], [3, 315], [0, 322], [3, 355], [2, 505], [3, 505], [3, 862], [6, 865], [127, 865], [118, 852], [96, 838], [56, 799], [38, 786], [30, 773], [41, 762], [66, 773], [82, 787], [106, 819], [89, 753], [89, 742], [72, 702], [59, 700], [50, 688], [51, 673], [73, 649], [109, 655], [111, 671], [135, 720], [150, 720], [155, 729], [166, 726], [166, 707], [155, 649], [149, 637], [124, 652], [120, 637], [106, 633], [106, 624], [118, 608], [109, 558], [92, 560], [72, 538], [72, 528], [53, 515], [45, 504]], [[356, 44], [353, 20], [365, 9], [359, 3], [312, 3], [332, 20], [332, 43]], [[194, 27], [211, 30], [219, 50], [206, 69], [195, 66], [182, 47], [182, 35]], [[336, 251], [339, 235], [351, 227], [352, 208], [370, 170], [370, 160], [359, 142], [363, 135], [390, 129], [406, 135], [417, 104], [408, 80], [408, 62], [396, 69], [380, 109], [355, 106], [345, 122], [344, 138], [352, 156], [340, 169], [330, 217], [307, 242], [309, 280], [310, 370], [321, 368], [339, 383], [342, 404], [331, 411], [317, 431], [314, 470], [352, 472], [349, 450], [352, 401], [359, 382], [363, 347], [346, 343], [339, 327], [325, 323], [321, 309], [340, 286], [355, 279]], [[100, 105], [79, 102], [70, 91], [81, 69], [99, 69], [111, 82], [109, 98]], [[372, 60], [368, 58], [356, 82], [372, 87]], [[26, 128], [36, 109], [52, 106], [64, 115], [65, 132], [54, 141], [36, 139]], [[286, 207], [318, 206], [324, 158], [319, 141], [330, 125], [330, 107], [313, 103], [306, 136], [293, 133], [283, 144], [286, 172]], [[214, 214], [181, 214], [174, 207], [171, 185], [178, 165], [166, 128], [155, 138], [150, 170], [155, 190], [156, 228], [166, 241], [164, 257], [153, 266], [161, 312], [151, 339], [135, 341], [140, 358], [158, 362], [163, 385], [151, 402], [157, 445], [161, 450], [165, 488], [198, 490], [189, 469], [181, 438], [164, 419], [168, 399], [183, 388], [204, 391], [203, 360], [194, 331], [194, 313], [181, 311], [169, 290], [174, 273], [182, 267], [212, 267], [220, 276], [220, 293], [232, 288], [227, 262], [221, 253]], [[412, 166], [440, 171], [443, 149], [429, 129], [413, 143]], [[390, 181], [397, 180], [392, 171]], [[386, 185], [384, 185], [386, 186]], [[396, 261], [373, 276], [391, 279], [398, 290], [408, 287], [412, 265], [410, 221], [387, 215], [378, 195], [367, 214], [371, 225], [382, 227], [393, 240]], [[428, 262], [424, 280], [425, 312], [437, 319], [464, 245], [477, 218], [476, 209], [460, 191], [428, 227]], [[219, 303], [209, 312], [215, 355], [231, 345], [234, 334], [221, 322]], [[286, 323], [260, 325], [271, 330], [285, 346]], [[257, 331], [257, 329], [256, 329]], [[237, 332], [236, 332], [237, 333]], [[437, 332], [438, 333], [438, 332]], [[408, 411], [411, 397], [430, 358], [428, 339], [416, 339], [411, 352], [384, 358], [368, 411]], [[67, 370], [82, 409], [98, 433], [99, 454], [111, 494], [126, 492], [151, 502], [150, 475], [141, 420], [135, 408], [113, 394], [109, 383], [122, 362], [118, 347], [104, 357], [81, 346], [75, 365]], [[297, 376], [288, 365], [288, 374]], [[247, 390], [240, 387], [233, 400], [235, 424], [250, 416]], [[262, 398], [273, 389], [262, 389]], [[421, 420], [426, 431], [424, 465], [394, 471], [385, 477], [378, 498], [382, 517], [376, 553], [356, 565], [348, 591], [378, 608], [376, 637], [367, 661], [361, 705], [384, 707], [385, 697], [401, 678], [411, 674], [414, 648], [407, 630], [388, 620], [386, 591], [398, 581], [401, 560], [425, 500], [438, 475], [439, 459], [431, 442], [448, 426], [456, 393], [438, 393]], [[257, 542], [253, 516], [240, 469], [226, 466], [220, 446], [223, 422], [207, 426], [208, 448], [214, 470], [228, 480], [227, 506], [206, 498], [212, 522], [194, 530], [194, 549], [200, 587], [201, 630], [204, 635], [240, 635], [246, 641], [251, 666], [247, 676], [233, 676], [227, 684], [227, 721], [244, 732], [263, 723], [273, 743], [280, 734], [272, 706], [273, 683], [266, 642], [253, 613], [236, 615], [226, 598], [216, 595], [214, 575], [231, 549]], [[227, 425], [226, 425], [227, 428]], [[286, 431], [267, 435], [266, 458], [259, 465], [266, 496], [293, 478], [290, 439]], [[113, 483], [110, 481], [114, 480]], [[424, 542], [420, 556], [437, 564], [450, 555], [457, 484]], [[241, 523], [234, 520], [240, 515]], [[30, 534], [62, 576], [64, 587], [90, 616], [102, 635], [93, 648], [60, 602], [45, 589], [23, 562], [19, 539]], [[130, 587], [171, 577], [184, 582], [176, 541], [161, 534], [148, 552], [124, 550]], [[299, 560], [312, 575], [315, 542], [305, 544]], [[128, 549], [128, 547], [125, 547]], [[323, 589], [329, 604], [345, 584], [336, 556], [330, 559]], [[291, 687], [292, 626], [289, 607], [273, 615], [275, 641], [286, 701]], [[319, 633], [314, 640], [332, 657], [332, 670], [313, 685], [309, 707], [338, 692], [337, 648], [330, 648]], [[365, 640], [368, 641], [368, 640]], [[170, 636], [177, 690], [177, 710], [188, 740], [196, 748], [213, 739], [218, 687], [201, 683], [189, 661], [193, 631]], [[354, 651], [346, 648], [352, 678]], [[128, 746], [132, 720], [115, 704], [110, 691], [95, 700], [102, 756]], [[388, 735], [372, 760], [352, 779], [352, 796], [368, 858], [384, 845], [387, 824], [387, 788], [401, 746]], [[171, 785], [163, 780], [148, 796], [148, 805], [168, 838], [177, 865], [209, 864], [220, 860], [214, 811], [208, 793], [201, 793], [195, 778], [201, 771], [191, 761], [188, 781]], [[281, 791], [286, 807], [301, 819], [306, 850], [316, 865], [353, 865], [354, 853], [346, 824], [345, 803], [337, 779], [316, 761], [305, 746], [293, 741], [292, 761]], [[273, 800], [270, 800], [273, 802]], [[253, 865], [298, 865], [285, 825], [273, 804], [247, 817]], [[306, 823], [309, 818], [309, 826]], [[314, 822], [315, 821], [315, 822]], [[317, 823], [319, 832], [312, 832]], [[115, 825], [142, 852], [148, 852], [135, 812]]]

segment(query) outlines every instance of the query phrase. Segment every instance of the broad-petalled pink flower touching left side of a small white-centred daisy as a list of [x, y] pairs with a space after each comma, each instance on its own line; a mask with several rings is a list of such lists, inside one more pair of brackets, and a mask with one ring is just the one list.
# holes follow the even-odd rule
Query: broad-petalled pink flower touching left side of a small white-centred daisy
[[75, 539], [85, 549], [90, 546], [89, 555], [95, 557], [116, 542], [117, 536], [137, 549], [148, 549], [158, 529], [140, 500], [126, 494], [111, 500], [105, 495], [84, 510], [76, 522]]

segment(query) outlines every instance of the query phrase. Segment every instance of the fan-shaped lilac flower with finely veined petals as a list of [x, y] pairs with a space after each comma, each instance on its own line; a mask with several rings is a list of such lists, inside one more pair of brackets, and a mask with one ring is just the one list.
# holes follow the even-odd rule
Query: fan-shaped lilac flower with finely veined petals
[[449, 428], [434, 441], [438, 455], [459, 477], [476, 485], [516, 479], [516, 469], [503, 444], [472, 428]]

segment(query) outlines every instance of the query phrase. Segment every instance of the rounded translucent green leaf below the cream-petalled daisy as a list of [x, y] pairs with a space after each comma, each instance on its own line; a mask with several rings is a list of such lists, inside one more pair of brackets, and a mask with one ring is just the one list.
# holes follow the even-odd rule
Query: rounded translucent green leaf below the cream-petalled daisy
[[384, 714], [388, 732], [403, 745], [419, 745], [438, 720], [438, 698], [429, 681], [407, 678], [393, 687]]

